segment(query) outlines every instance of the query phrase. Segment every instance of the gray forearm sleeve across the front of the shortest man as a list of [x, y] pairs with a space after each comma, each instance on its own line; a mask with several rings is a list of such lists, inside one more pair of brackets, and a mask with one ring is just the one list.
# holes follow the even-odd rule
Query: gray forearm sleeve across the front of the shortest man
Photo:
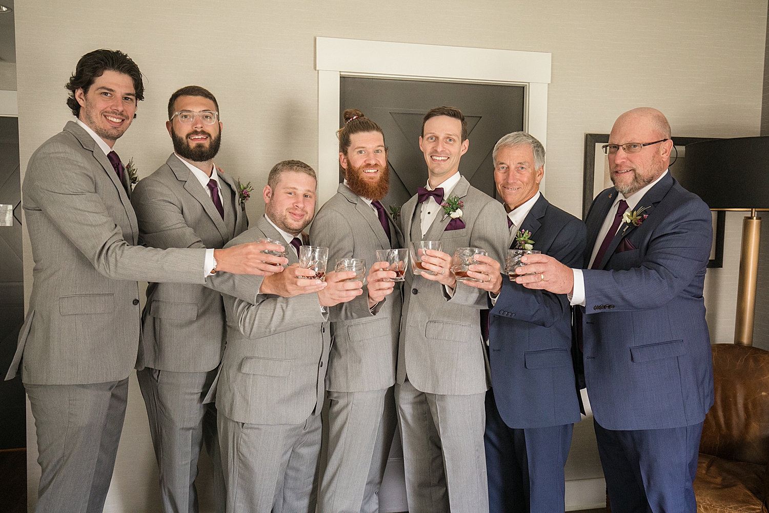
[[328, 321], [328, 314], [321, 311], [317, 293], [293, 298], [259, 295], [255, 304], [225, 296], [225, 308], [228, 318], [235, 320], [240, 332], [248, 338], [266, 337]]

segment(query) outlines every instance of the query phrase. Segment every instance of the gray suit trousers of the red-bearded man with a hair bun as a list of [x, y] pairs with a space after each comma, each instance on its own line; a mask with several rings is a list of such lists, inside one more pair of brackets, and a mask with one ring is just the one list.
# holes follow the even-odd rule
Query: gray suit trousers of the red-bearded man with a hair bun
[[328, 465], [318, 513], [377, 513], [396, 425], [393, 389], [327, 393]]

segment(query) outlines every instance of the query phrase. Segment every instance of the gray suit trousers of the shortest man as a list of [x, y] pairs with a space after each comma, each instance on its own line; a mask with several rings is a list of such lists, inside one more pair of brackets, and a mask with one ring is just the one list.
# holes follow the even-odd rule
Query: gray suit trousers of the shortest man
[[314, 513], [321, 415], [301, 424], [245, 424], [218, 415], [228, 513]]

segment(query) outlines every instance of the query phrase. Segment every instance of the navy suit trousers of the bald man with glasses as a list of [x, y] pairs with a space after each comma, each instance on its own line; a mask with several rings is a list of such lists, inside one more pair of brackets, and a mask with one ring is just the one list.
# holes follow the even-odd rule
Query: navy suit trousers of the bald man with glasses
[[614, 431], [594, 421], [612, 513], [695, 513], [702, 422]]

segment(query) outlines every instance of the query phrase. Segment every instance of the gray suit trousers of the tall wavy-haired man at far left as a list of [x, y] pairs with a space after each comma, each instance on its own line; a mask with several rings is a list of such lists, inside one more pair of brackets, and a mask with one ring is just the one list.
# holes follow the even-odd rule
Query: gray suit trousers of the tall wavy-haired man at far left
[[128, 378], [90, 385], [24, 384], [42, 469], [37, 513], [100, 513], [125, 419]]

